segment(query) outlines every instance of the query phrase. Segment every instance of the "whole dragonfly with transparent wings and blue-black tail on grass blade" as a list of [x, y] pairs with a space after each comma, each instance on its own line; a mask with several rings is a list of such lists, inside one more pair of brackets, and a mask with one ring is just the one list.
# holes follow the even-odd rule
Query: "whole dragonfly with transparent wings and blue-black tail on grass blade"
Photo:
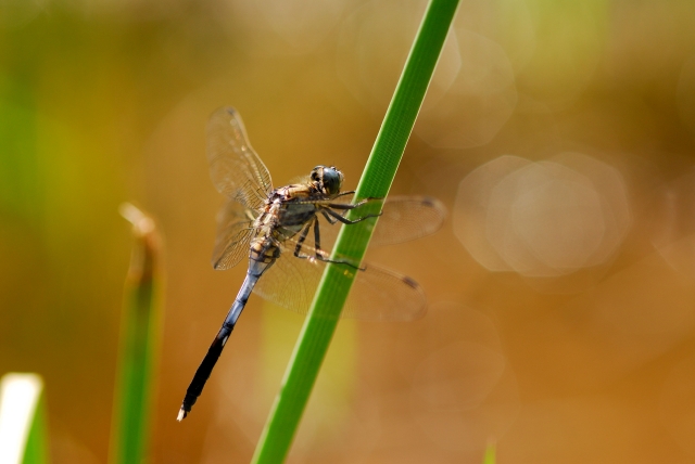
[[[279, 306], [306, 313], [325, 266], [333, 263], [344, 268], [345, 273], [355, 274], [341, 317], [396, 321], [420, 318], [427, 299], [417, 282], [377, 266], [330, 255], [321, 247], [321, 240], [326, 243], [336, 235], [338, 228], [331, 225], [364, 222], [374, 228], [378, 218], [372, 244], [406, 242], [437, 231], [446, 214], [439, 201], [427, 196], [352, 203], [354, 191], [341, 192], [344, 176], [334, 166], [316, 166], [304, 181], [274, 189], [268, 169], [251, 147], [243, 121], [232, 107], [213, 113], [206, 141], [213, 183], [227, 197], [217, 216], [212, 263], [216, 270], [226, 270], [247, 256], [249, 268], [186, 391], [179, 422], [202, 394], [252, 291]], [[380, 203], [380, 212], [359, 215], [361, 207], [375, 202]], [[354, 219], [346, 217], [350, 210], [355, 210], [351, 215]], [[309, 246], [306, 239], [312, 231], [314, 245]]]

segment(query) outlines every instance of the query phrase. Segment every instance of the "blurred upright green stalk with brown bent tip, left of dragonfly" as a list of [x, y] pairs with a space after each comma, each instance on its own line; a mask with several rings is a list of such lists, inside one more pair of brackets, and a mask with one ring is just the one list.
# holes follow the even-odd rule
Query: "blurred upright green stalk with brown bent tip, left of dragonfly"
[[140, 464], [148, 452], [160, 345], [161, 246], [151, 218], [129, 204], [121, 214], [132, 223], [136, 244], [124, 293], [110, 459]]

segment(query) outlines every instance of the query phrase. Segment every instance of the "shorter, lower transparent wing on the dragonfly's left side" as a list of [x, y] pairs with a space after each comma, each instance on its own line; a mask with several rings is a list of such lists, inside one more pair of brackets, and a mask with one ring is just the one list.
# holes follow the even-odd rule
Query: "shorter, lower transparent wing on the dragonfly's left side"
[[254, 210], [244, 208], [236, 199], [228, 199], [217, 215], [217, 235], [212, 263], [217, 270], [236, 266], [249, 256], [249, 246], [254, 229]]

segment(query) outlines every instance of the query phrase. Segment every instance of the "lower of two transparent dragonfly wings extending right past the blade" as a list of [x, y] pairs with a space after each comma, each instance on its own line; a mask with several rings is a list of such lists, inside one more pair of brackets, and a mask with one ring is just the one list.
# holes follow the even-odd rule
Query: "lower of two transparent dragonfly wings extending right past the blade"
[[[294, 257], [292, 242], [288, 241], [289, 246], [282, 249], [280, 258], [263, 274], [253, 291], [276, 305], [305, 314], [326, 263]], [[302, 252], [315, 253], [307, 246]], [[420, 285], [410, 278], [372, 265], [363, 263], [364, 271], [339, 266], [344, 268], [345, 274], [356, 273], [341, 317], [410, 321], [425, 314], [427, 298]]]

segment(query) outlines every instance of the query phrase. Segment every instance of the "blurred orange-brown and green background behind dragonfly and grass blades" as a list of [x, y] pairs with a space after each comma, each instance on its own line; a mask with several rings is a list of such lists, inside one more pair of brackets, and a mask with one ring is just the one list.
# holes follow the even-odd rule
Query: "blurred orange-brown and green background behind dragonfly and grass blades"
[[[0, 373], [45, 376], [55, 463], [103, 463], [132, 201], [166, 289], [153, 463], [248, 462], [302, 318], [215, 272], [204, 126], [276, 185], [356, 186], [421, 0], [0, 1]], [[462, 0], [393, 193], [450, 209], [369, 259], [413, 323], [345, 321], [289, 462], [695, 462], [695, 3]]]

